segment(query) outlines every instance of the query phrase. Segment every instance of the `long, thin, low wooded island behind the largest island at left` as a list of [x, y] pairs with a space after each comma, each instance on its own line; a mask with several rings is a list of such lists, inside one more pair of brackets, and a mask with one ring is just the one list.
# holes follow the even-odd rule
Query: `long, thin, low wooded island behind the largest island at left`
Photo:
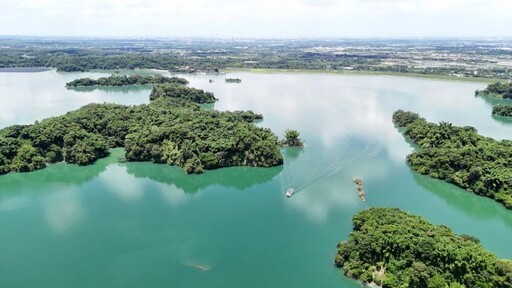
[[98, 78], [97, 80], [91, 78], [76, 79], [66, 83], [66, 87], [157, 85], [165, 83], [186, 85], [188, 81], [184, 78], [165, 77], [162, 75], [111, 75]]

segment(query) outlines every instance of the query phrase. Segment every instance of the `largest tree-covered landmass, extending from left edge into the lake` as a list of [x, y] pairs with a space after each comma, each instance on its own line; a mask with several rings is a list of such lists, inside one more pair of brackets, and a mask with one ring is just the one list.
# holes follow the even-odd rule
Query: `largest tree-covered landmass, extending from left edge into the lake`
[[89, 104], [0, 130], [0, 174], [59, 161], [87, 165], [113, 147], [124, 147], [128, 161], [167, 163], [187, 173], [282, 164], [277, 136], [251, 123], [260, 115], [202, 110], [197, 103], [214, 102], [213, 94], [176, 84], [157, 86], [151, 95], [147, 105]]

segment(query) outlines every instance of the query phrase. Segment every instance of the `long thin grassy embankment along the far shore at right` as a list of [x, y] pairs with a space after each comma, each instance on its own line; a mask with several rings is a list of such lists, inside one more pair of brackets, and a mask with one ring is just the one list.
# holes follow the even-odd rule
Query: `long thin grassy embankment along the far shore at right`
[[419, 73], [400, 73], [400, 72], [381, 72], [381, 71], [354, 71], [354, 70], [314, 70], [314, 69], [277, 69], [277, 68], [223, 68], [219, 69], [221, 73], [232, 72], [253, 72], [253, 73], [315, 73], [315, 74], [341, 74], [341, 75], [360, 75], [360, 76], [396, 76], [410, 78], [424, 78], [433, 80], [451, 80], [463, 82], [492, 83], [496, 81], [507, 81], [498, 78], [482, 77], [455, 77], [448, 75], [419, 74]]

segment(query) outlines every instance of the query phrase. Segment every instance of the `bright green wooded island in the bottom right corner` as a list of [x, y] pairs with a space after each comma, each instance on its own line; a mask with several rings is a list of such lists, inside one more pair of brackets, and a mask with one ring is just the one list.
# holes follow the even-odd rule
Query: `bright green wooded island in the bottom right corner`
[[512, 287], [512, 262], [479, 240], [397, 208], [357, 213], [334, 258], [348, 277], [384, 288]]

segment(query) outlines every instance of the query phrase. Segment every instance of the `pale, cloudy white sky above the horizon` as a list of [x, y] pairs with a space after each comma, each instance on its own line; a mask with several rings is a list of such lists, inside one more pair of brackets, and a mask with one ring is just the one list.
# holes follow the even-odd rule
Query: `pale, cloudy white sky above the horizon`
[[0, 0], [0, 35], [512, 37], [512, 0]]

